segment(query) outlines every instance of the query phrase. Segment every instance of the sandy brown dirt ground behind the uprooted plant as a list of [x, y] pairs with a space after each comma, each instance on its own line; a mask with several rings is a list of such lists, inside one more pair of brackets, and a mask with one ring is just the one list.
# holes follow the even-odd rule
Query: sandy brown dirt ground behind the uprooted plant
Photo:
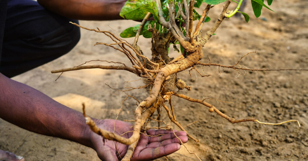
[[[249, 68], [308, 69], [308, 1], [274, 1], [271, 8], [277, 13], [263, 10], [258, 19], [250, 8], [248, 4], [245, 9], [251, 17], [248, 24], [234, 17], [223, 21], [216, 35], [203, 48], [205, 57], [201, 61], [207, 63], [209, 56], [212, 63], [232, 65], [246, 53], [257, 51], [246, 56], [240, 64]], [[209, 17], [212, 20], [203, 26], [203, 31], [213, 25], [221, 9], [218, 5], [211, 10]], [[123, 29], [138, 22], [80, 21], [80, 24], [120, 34]], [[81, 33], [80, 42], [71, 52], [13, 79], [78, 111], [81, 111], [81, 103], [85, 102], [87, 114], [92, 117], [115, 119], [126, 94], [105, 84], [120, 90], [143, 85], [142, 81], [125, 82], [138, 79], [135, 75], [126, 71], [89, 69], [66, 72], [55, 81], [59, 74], [50, 73], [54, 69], [97, 59], [129, 64], [128, 59], [114, 49], [93, 46], [95, 42], [111, 42], [103, 34], [84, 29]], [[132, 38], [127, 40], [133, 42]], [[138, 44], [145, 55], [150, 56], [150, 39], [141, 38]], [[170, 51], [172, 57], [179, 55], [173, 49]], [[307, 71], [240, 71], [239, 74], [218, 67], [203, 70], [212, 76], [201, 78], [192, 72], [192, 80], [188, 72], [179, 74], [193, 89], [181, 93], [192, 98], [232, 101], [234, 103], [208, 102], [234, 118], [254, 117], [274, 123], [294, 119], [301, 123], [301, 127], [295, 122], [279, 126], [255, 122], [232, 124], [216, 113], [209, 113], [207, 107], [174, 98], [176, 118], [182, 125], [198, 121], [187, 127], [190, 134], [201, 139], [200, 143], [193, 140], [186, 143], [191, 151], [202, 160], [308, 160]], [[147, 97], [148, 91], [135, 90], [129, 94], [141, 101]], [[128, 99], [123, 106], [119, 120], [132, 120], [136, 101]], [[170, 123], [165, 113], [162, 119]], [[0, 149], [24, 156], [28, 161], [99, 160], [91, 148], [28, 132], [3, 120], [0, 120]], [[167, 158], [197, 160], [184, 147]]]

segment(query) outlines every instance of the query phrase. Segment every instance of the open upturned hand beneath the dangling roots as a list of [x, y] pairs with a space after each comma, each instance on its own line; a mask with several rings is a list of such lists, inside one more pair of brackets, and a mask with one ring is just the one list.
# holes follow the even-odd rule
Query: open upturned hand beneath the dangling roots
[[[115, 120], [107, 119], [97, 120], [95, 122], [99, 128], [113, 132]], [[117, 135], [132, 131], [132, 129], [132, 124], [128, 122], [115, 122], [115, 134]], [[186, 132], [175, 130], [175, 133], [182, 140], [183, 143], [186, 143], [188, 141]], [[122, 136], [129, 138], [130, 136], [132, 136], [132, 132], [125, 133]], [[106, 139], [104, 140], [104, 144], [102, 136], [99, 136], [94, 132], [91, 132], [90, 140], [94, 145], [94, 149], [96, 150], [97, 155], [102, 160], [121, 160], [121, 158], [124, 157], [128, 149], [128, 145], [121, 144], [112, 140]], [[140, 135], [140, 139], [134, 150], [133, 157], [131, 158], [131, 160], [154, 160], [165, 155], [169, 155], [180, 149], [179, 143], [180, 141], [174, 136], [172, 130], [148, 130], [145, 134]]]

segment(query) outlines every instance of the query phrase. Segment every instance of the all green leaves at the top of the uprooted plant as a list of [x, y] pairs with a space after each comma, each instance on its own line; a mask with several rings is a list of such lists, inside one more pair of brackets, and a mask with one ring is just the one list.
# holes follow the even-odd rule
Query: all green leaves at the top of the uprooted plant
[[[225, 2], [225, 1], [226, 0], [195, 0], [194, 7], [199, 8], [202, 3], [206, 3], [206, 4], [209, 4], [209, 5], [217, 5], [217, 4], [220, 4], [220, 3]], [[243, 16], [245, 17], [245, 21], [248, 22], [249, 21], [249, 15], [247, 13], [238, 11], [238, 9], [241, 6], [241, 3], [242, 3], [243, 0], [238, 0], [238, 1], [232, 0], [232, 1], [237, 3], [238, 6], [233, 11], [233, 13], [230, 13], [229, 17], [232, 17], [235, 13], [239, 12], [239, 13], [243, 14]], [[160, 0], [160, 2], [161, 2], [161, 6], [162, 6], [163, 16], [166, 19], [166, 21], [168, 21], [168, 19], [169, 19], [169, 12], [168, 12], [168, 8], [167, 8], [169, 3], [171, 3], [171, 2], [174, 3], [174, 4], [179, 3], [180, 5], [183, 5], [183, 0]], [[272, 2], [273, 2], [273, 0], [267, 0], [268, 5], [271, 5]], [[263, 6], [267, 9], [271, 10], [268, 6], [266, 6], [264, 4], [264, 0], [251, 0], [251, 4], [252, 4], [254, 15], [256, 17], [259, 17], [261, 15], [261, 10], [262, 10]], [[184, 7], [182, 7], [182, 9], [184, 11]], [[175, 11], [176, 11], [176, 17], [175, 17], [176, 23], [177, 23], [178, 27], [180, 28], [180, 30], [183, 33], [185, 33], [186, 31], [185, 31], [185, 28], [184, 28], [184, 20], [179, 14], [178, 5], [175, 5]], [[148, 25], [150, 24], [153, 27], [154, 23], [156, 23], [156, 30], [158, 30], [160, 34], [165, 34], [165, 33], [169, 32], [160, 23], [159, 16], [158, 16], [158, 7], [156, 5], [155, 0], [128, 0], [122, 8], [122, 10], [120, 12], [120, 16], [123, 17], [124, 19], [142, 20], [148, 12], [151, 13], [151, 17], [153, 17], [151, 19], [154, 19], [154, 20], [146, 22], [146, 24], [144, 25], [144, 27], [142, 28], [142, 30], [140, 32], [140, 35], [143, 35], [145, 38], [151, 38], [152, 33], [148, 31]], [[201, 15], [196, 10], [193, 10], [193, 20], [200, 20], [200, 17], [201, 17]], [[210, 20], [211, 19], [209, 17], [206, 17], [204, 22], [208, 22]], [[133, 27], [129, 27], [128, 29], [125, 29], [120, 34], [120, 36], [123, 37], [123, 38], [136, 36], [136, 33], [137, 33], [139, 26], [140, 26], [140, 24], [133, 26]], [[172, 44], [177, 44], [177, 42], [176, 41], [172, 42]], [[175, 50], [179, 51], [176, 48], [175, 48]]]

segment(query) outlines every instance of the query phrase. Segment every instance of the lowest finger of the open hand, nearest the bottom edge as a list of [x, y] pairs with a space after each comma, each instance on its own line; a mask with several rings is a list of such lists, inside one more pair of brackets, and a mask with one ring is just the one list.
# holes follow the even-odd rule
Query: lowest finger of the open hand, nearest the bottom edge
[[152, 160], [157, 159], [169, 154], [172, 154], [175, 151], [180, 149], [180, 144], [172, 143], [165, 146], [160, 146], [156, 148], [145, 148], [142, 151], [134, 152], [134, 157], [131, 160]]

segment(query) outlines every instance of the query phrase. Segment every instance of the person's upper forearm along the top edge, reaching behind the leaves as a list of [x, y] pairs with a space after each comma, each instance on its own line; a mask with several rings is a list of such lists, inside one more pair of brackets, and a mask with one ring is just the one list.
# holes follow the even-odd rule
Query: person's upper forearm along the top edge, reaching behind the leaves
[[38, 0], [54, 13], [78, 20], [123, 19], [119, 13], [126, 0]]

